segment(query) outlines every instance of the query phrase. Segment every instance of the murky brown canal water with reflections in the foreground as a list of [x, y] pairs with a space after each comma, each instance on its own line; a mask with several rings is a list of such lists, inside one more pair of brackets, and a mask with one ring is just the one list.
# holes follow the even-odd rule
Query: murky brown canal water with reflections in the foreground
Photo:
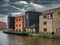
[[60, 45], [60, 39], [9, 35], [0, 31], [0, 45]]

